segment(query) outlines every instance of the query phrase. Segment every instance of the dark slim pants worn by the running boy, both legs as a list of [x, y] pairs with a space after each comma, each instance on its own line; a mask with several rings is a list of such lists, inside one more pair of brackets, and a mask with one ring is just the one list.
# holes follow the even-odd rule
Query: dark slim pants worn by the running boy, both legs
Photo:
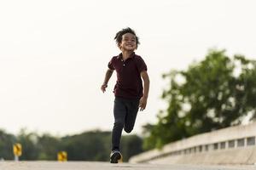
[[136, 121], [138, 105], [139, 99], [115, 97], [113, 105], [112, 150], [119, 150], [123, 128], [126, 133], [131, 133]]

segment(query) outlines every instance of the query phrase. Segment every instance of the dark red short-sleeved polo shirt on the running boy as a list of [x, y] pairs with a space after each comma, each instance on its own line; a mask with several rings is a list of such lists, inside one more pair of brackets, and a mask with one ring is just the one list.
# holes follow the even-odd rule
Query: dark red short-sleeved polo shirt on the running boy
[[109, 61], [108, 68], [117, 73], [117, 82], [113, 89], [115, 96], [128, 99], [143, 96], [143, 81], [140, 73], [147, 71], [147, 65], [141, 56], [133, 53], [124, 61], [122, 54], [119, 54]]

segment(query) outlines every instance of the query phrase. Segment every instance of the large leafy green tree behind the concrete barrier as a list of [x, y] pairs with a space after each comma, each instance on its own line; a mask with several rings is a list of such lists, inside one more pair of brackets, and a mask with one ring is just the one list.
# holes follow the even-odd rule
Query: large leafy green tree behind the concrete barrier
[[149, 134], [144, 147], [163, 144], [197, 133], [240, 124], [255, 117], [256, 63], [224, 50], [210, 50], [206, 59], [189, 66], [188, 71], [171, 71], [163, 77], [170, 85], [162, 94], [168, 107], [158, 114], [156, 125], [145, 126]]

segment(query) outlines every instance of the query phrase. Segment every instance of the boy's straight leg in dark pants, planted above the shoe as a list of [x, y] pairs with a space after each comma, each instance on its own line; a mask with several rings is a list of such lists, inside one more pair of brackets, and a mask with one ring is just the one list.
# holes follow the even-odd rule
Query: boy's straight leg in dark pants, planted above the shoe
[[119, 150], [122, 130], [125, 123], [126, 108], [125, 102], [121, 98], [114, 99], [113, 105], [113, 131], [112, 131], [112, 150]]

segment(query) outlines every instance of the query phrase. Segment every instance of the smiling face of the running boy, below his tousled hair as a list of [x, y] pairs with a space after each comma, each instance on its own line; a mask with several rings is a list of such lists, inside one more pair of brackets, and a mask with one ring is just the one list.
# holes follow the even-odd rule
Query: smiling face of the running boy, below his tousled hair
[[134, 51], [137, 49], [137, 42], [135, 35], [126, 33], [122, 36], [122, 42], [119, 43], [119, 48], [123, 51]]

